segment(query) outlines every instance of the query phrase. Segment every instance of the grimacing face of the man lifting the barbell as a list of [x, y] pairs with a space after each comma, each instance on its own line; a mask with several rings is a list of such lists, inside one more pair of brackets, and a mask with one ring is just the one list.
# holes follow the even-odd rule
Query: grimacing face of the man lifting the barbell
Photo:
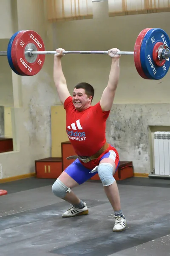
[[73, 91], [73, 104], [78, 111], [82, 111], [91, 105], [92, 96], [85, 94], [85, 89], [76, 89]]

